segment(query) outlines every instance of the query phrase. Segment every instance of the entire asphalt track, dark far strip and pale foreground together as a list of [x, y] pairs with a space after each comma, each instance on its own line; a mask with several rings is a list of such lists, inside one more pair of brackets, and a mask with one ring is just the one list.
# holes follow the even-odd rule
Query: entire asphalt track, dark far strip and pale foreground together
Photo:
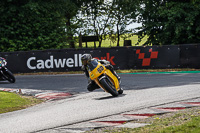
[[200, 97], [199, 73], [120, 74], [120, 77], [125, 91], [117, 98], [101, 90], [88, 93], [83, 74], [16, 76], [14, 84], [1, 81], [1, 88], [58, 90], [77, 95], [0, 114], [0, 132], [53, 132], [56, 127]]

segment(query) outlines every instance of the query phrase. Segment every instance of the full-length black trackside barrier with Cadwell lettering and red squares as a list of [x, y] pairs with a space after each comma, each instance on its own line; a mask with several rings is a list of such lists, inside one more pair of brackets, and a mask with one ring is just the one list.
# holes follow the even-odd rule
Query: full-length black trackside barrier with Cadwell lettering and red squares
[[199, 44], [2, 52], [0, 56], [13, 73], [64, 72], [81, 70], [84, 53], [110, 61], [115, 69], [200, 68]]

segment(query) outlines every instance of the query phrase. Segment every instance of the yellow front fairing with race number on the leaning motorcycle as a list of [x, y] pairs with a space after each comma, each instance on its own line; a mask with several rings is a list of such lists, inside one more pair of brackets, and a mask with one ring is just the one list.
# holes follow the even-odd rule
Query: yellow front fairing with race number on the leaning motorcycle
[[94, 70], [89, 72], [90, 79], [94, 80], [101, 88], [103, 88], [103, 86], [99, 83], [98, 77], [102, 74], [107, 75], [115, 85], [115, 89], [119, 91], [120, 87], [117, 77], [113, 75], [113, 73], [109, 69], [106, 69], [101, 63], [98, 63], [98, 66]]

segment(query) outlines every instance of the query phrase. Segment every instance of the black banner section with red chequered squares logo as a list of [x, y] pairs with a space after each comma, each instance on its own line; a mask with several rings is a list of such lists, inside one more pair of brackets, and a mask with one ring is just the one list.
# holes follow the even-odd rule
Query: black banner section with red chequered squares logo
[[180, 67], [179, 53], [178, 46], [132, 47], [129, 68], [177, 68]]

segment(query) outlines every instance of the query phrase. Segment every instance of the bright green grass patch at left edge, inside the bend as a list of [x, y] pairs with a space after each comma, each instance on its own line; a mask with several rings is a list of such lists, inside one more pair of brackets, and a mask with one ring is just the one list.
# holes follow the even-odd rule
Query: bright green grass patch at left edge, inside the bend
[[25, 109], [41, 102], [42, 100], [31, 96], [21, 96], [11, 92], [0, 91], [0, 114]]

